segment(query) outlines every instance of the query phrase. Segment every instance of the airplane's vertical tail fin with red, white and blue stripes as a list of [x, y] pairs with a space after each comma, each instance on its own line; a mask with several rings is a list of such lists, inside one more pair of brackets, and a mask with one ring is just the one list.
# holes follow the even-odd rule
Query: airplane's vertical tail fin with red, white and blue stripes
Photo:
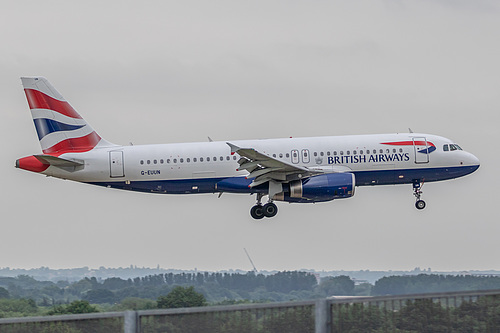
[[44, 154], [113, 146], [103, 140], [44, 77], [21, 77]]

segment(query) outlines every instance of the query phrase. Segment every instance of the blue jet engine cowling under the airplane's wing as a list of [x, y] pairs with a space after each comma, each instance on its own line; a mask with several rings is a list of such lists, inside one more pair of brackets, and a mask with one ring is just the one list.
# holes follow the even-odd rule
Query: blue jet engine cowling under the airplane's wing
[[290, 182], [273, 199], [302, 203], [350, 198], [354, 195], [355, 186], [353, 173], [329, 173]]

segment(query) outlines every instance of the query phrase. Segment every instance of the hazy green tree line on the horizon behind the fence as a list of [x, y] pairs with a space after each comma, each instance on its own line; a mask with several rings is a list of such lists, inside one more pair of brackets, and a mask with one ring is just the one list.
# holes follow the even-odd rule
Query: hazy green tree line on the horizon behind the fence
[[[20, 275], [0, 277], [0, 317], [40, 314], [75, 301], [98, 305], [98, 311], [158, 307], [160, 297], [182, 286], [203, 295], [204, 304], [279, 302], [329, 296], [376, 296], [444, 291], [500, 289], [500, 277], [420, 274], [384, 277], [374, 285], [355, 285], [348, 276], [322, 278], [311, 273], [284, 271], [272, 275], [242, 273], [166, 273], [121, 279], [86, 277], [77, 282], [37, 281]], [[77, 304], [80, 306], [81, 304]], [[59, 312], [63, 313], [63, 308]]]

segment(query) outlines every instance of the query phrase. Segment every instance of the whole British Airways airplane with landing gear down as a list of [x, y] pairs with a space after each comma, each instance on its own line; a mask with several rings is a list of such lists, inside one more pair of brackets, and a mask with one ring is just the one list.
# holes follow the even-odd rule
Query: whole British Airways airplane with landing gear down
[[[250, 215], [274, 217], [275, 201], [317, 203], [356, 186], [422, 185], [473, 173], [479, 160], [454, 141], [422, 133], [121, 146], [104, 140], [44, 77], [22, 77], [42, 154], [16, 167], [108, 188], [158, 193], [256, 195]], [[264, 196], [268, 197], [265, 204]]]

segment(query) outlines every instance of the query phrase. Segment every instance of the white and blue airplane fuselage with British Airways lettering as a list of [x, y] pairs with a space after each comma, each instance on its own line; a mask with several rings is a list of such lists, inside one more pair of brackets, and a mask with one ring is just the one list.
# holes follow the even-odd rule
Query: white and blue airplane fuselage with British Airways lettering
[[[419, 143], [417, 143], [419, 142]], [[457, 178], [479, 167], [463, 150], [444, 151], [449, 139], [417, 133], [231, 141], [291, 165], [328, 172], [352, 172], [356, 185], [401, 184]], [[432, 145], [432, 146], [431, 146]], [[435, 147], [433, 151], [429, 148]], [[427, 149], [427, 152], [420, 150]], [[245, 177], [226, 142], [96, 147], [62, 158], [84, 166], [50, 166], [42, 173], [122, 189], [156, 193], [218, 192], [217, 182]], [[137, 185], [137, 186], [136, 186]], [[235, 191], [241, 192], [241, 191]], [[256, 192], [255, 189], [248, 192]]]

